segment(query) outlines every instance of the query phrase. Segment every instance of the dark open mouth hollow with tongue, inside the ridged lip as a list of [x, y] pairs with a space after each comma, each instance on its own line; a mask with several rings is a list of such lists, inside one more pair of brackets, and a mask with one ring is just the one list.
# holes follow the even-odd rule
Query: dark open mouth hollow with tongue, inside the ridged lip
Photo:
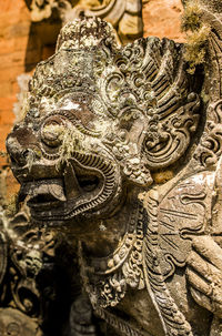
[[65, 179], [42, 180], [22, 185], [20, 198], [28, 196], [28, 206], [36, 220], [46, 221], [69, 216], [77, 208], [85, 211], [85, 204], [95, 205], [103, 192], [102, 175], [71, 174]]

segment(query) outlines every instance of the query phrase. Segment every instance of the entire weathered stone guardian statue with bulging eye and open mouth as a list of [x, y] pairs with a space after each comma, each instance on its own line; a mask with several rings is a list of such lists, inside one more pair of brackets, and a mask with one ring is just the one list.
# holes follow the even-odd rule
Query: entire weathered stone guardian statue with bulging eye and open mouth
[[185, 9], [186, 47], [68, 23], [7, 139], [31, 227], [75, 246], [67, 335], [222, 333], [222, 6]]

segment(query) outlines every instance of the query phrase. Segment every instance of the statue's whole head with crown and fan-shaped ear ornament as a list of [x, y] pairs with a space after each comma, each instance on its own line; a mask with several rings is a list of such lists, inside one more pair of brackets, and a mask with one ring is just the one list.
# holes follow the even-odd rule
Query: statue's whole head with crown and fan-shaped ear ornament
[[149, 186], [151, 171], [184, 154], [199, 98], [176, 63], [180, 52], [158, 39], [118, 48], [98, 19], [62, 29], [57, 53], [30, 82], [26, 118], [7, 140], [36, 221], [90, 225], [110, 216], [127, 189]]

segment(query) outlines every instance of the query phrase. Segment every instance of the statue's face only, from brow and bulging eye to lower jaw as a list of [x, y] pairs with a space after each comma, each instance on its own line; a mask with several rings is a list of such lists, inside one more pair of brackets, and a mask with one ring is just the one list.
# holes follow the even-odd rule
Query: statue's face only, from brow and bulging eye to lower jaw
[[114, 134], [114, 122], [97, 114], [93, 103], [95, 110], [100, 102], [89, 94], [67, 93], [52, 105], [42, 104], [36, 131], [27, 116], [9, 136], [8, 146], [18, 153], [18, 159], [12, 154], [12, 170], [21, 195], [29, 195], [33, 218], [97, 216], [108, 212], [109, 202], [119, 202], [121, 171], [112, 142], [104, 144]]

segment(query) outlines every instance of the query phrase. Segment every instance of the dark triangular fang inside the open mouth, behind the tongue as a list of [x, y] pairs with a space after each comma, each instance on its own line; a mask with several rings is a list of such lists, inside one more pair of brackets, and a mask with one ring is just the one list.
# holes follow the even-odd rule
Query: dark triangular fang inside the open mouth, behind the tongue
[[64, 185], [68, 200], [78, 198], [81, 195], [81, 190], [71, 163], [67, 165], [64, 171]]

